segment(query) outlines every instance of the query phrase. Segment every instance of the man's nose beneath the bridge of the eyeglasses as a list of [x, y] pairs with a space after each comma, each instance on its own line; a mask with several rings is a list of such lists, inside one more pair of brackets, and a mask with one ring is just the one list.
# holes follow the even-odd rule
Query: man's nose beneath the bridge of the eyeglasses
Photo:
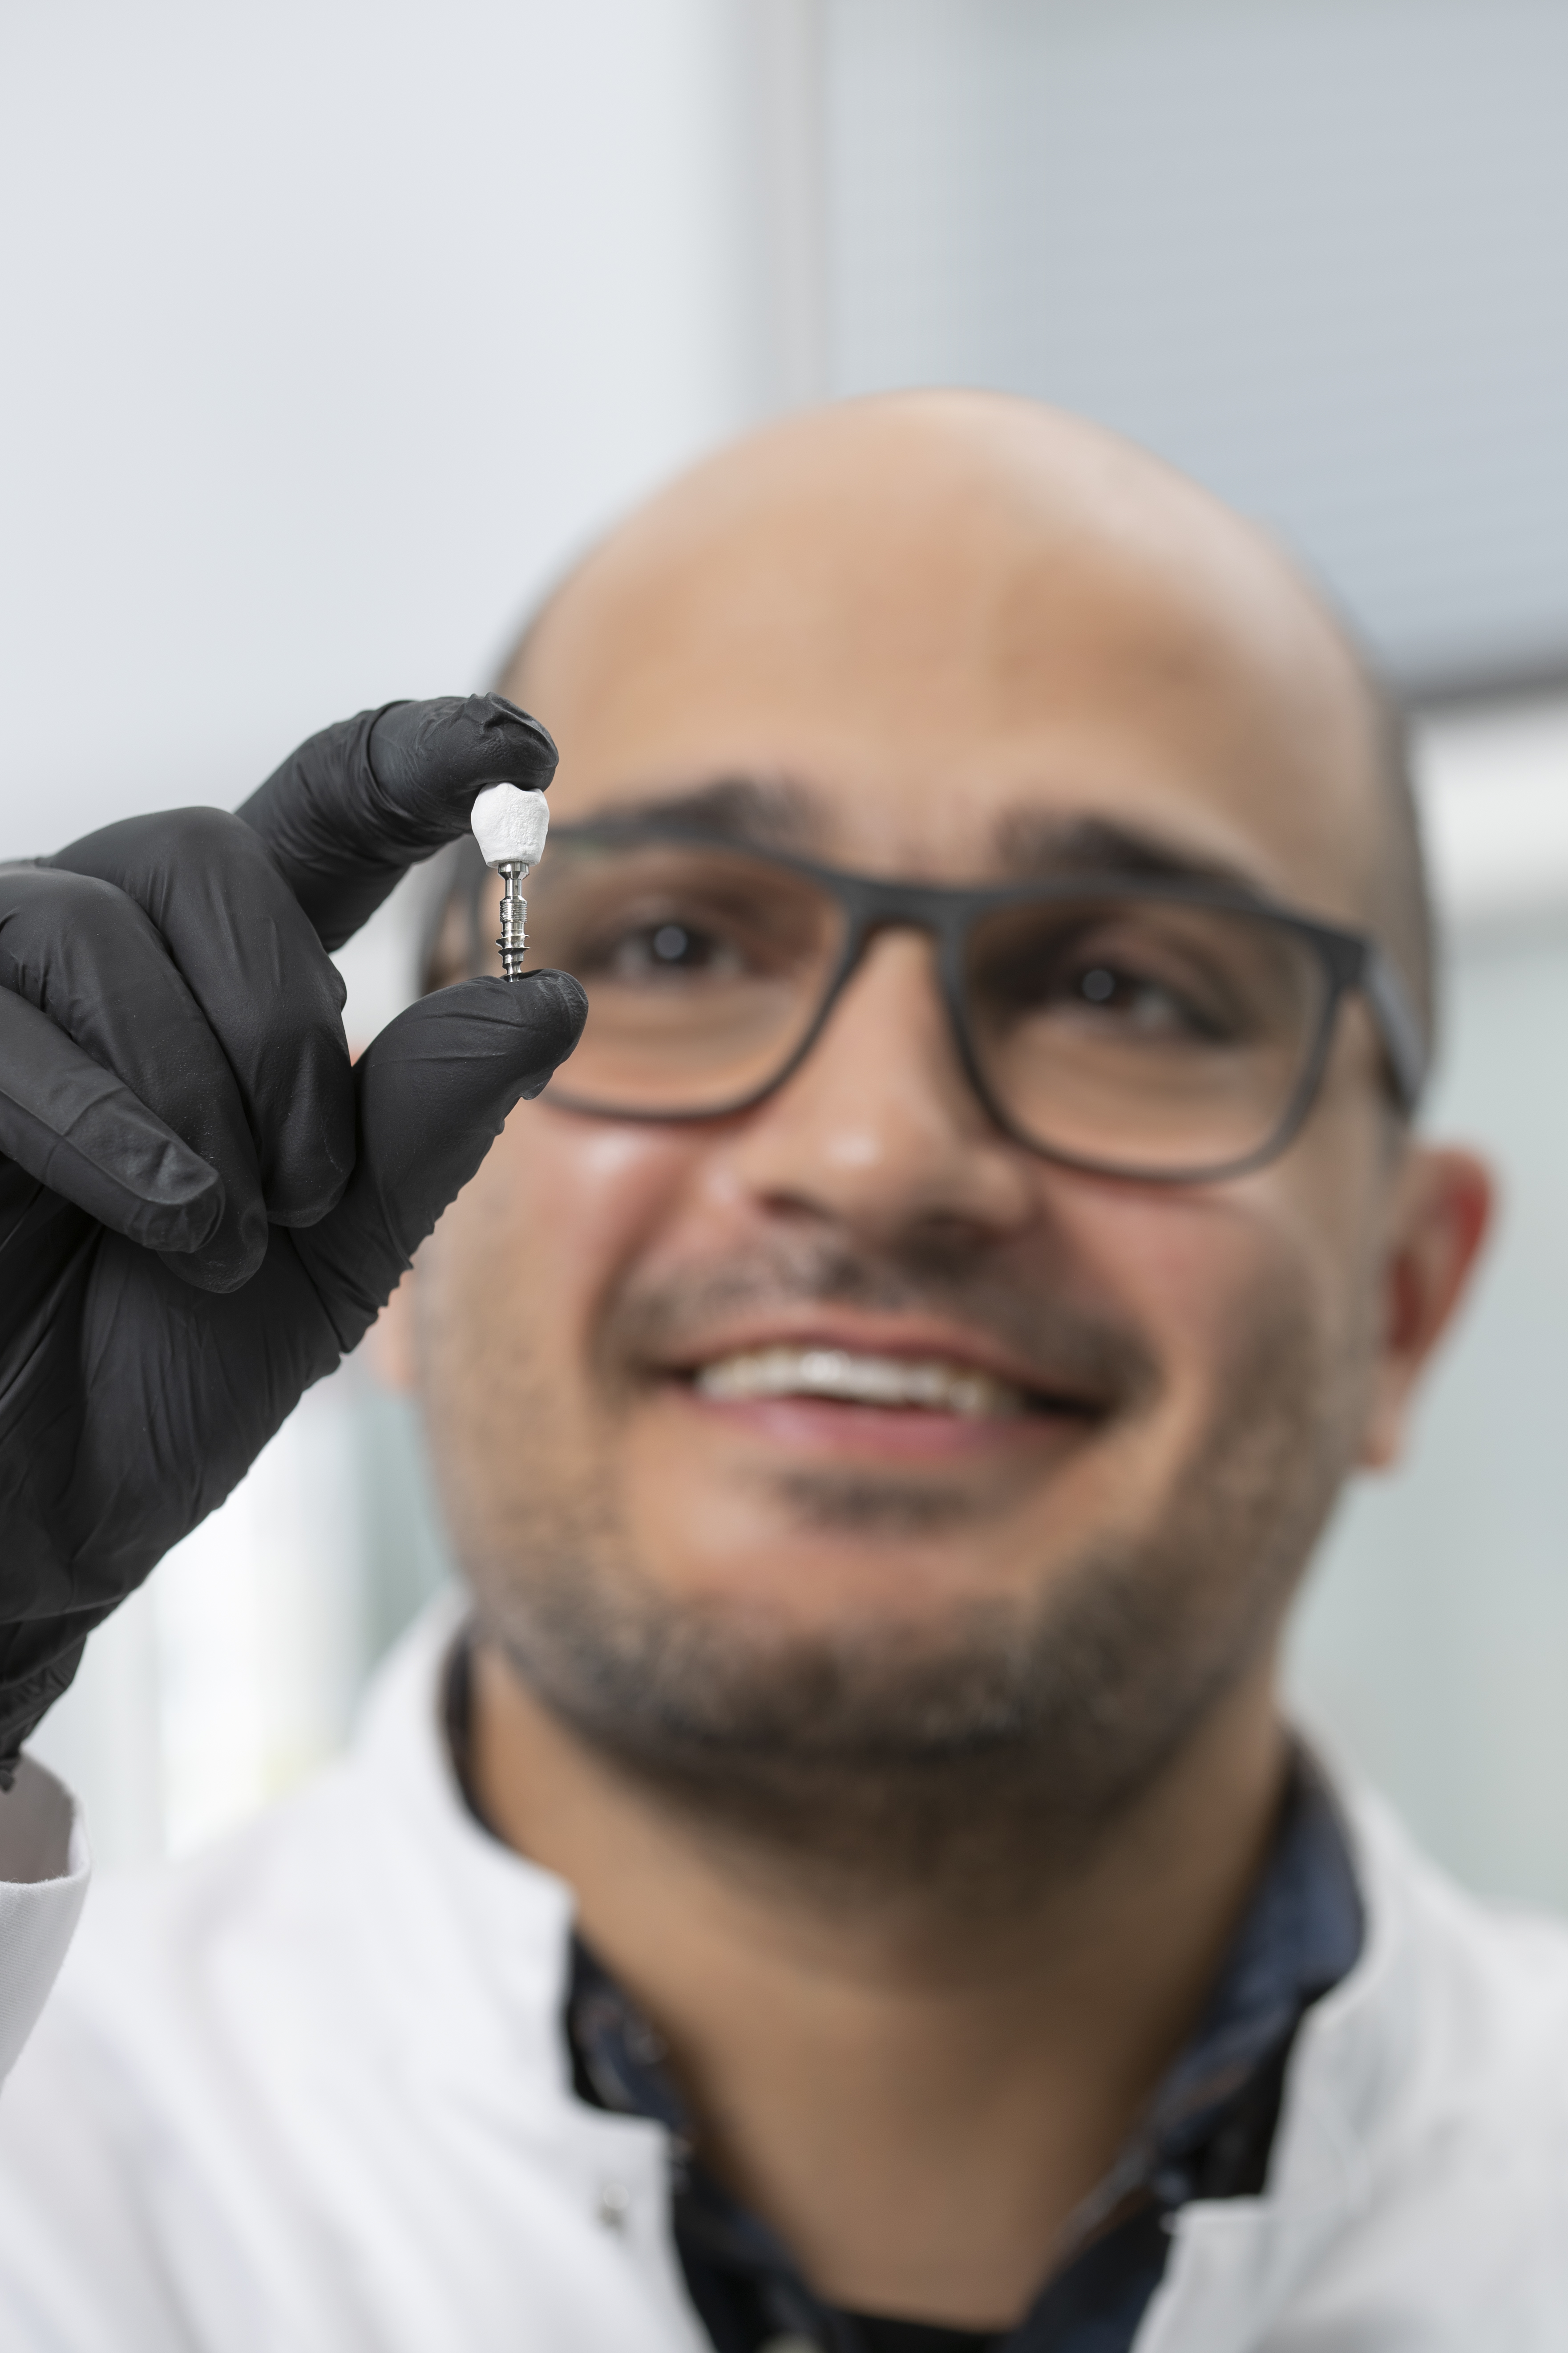
[[1030, 1224], [1037, 1162], [969, 1085], [929, 939], [872, 939], [799, 1071], [738, 1122], [729, 1176], [884, 1242], [997, 1242]]

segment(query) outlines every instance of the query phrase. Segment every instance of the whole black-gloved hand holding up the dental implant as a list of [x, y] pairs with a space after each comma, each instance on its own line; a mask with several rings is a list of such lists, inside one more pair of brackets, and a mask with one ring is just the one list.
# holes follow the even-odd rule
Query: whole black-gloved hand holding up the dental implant
[[237, 816], [0, 868], [0, 1781], [576, 1045], [574, 979], [487, 976], [350, 1068], [327, 958], [482, 784], [552, 772], [498, 694], [390, 704]]

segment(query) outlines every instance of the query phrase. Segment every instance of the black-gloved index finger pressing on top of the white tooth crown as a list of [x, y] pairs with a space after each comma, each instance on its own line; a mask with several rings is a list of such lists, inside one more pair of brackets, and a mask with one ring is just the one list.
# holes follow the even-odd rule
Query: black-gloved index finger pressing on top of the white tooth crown
[[386, 704], [324, 727], [240, 805], [324, 948], [341, 948], [397, 878], [456, 840], [482, 784], [543, 793], [550, 732], [503, 694]]

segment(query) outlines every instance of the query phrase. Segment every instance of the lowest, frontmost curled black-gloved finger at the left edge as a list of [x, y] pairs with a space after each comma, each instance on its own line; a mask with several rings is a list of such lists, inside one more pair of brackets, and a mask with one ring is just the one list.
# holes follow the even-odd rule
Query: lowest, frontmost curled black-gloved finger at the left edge
[[0, 1153], [143, 1249], [200, 1249], [223, 1181], [127, 1085], [0, 988]]

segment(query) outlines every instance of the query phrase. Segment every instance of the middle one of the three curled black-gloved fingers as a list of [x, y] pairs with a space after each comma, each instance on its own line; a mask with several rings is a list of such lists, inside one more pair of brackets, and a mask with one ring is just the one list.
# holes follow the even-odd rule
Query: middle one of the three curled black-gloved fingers
[[0, 868], [0, 988], [35, 1005], [221, 1179], [219, 1224], [167, 1264], [200, 1289], [247, 1282], [268, 1233], [256, 1146], [223, 1047], [150, 918], [96, 875]]

